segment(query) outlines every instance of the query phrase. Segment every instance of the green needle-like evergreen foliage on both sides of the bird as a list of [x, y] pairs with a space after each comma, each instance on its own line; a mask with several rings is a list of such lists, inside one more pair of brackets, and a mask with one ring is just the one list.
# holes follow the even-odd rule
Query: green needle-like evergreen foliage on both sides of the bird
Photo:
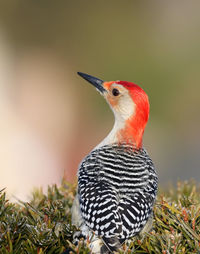
[[[75, 186], [49, 187], [33, 194], [30, 203], [12, 204], [0, 192], [0, 253], [89, 253], [89, 243], [72, 243], [76, 230], [70, 208]], [[178, 182], [160, 191], [154, 207], [152, 232], [135, 238], [121, 253], [200, 253], [200, 186]]]

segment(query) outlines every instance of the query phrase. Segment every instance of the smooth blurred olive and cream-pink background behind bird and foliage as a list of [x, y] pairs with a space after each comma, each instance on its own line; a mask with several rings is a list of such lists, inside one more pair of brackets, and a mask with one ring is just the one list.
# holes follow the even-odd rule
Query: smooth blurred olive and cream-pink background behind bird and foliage
[[0, 188], [76, 180], [110, 131], [106, 102], [77, 76], [149, 95], [144, 145], [160, 185], [200, 180], [200, 2], [0, 1]]

